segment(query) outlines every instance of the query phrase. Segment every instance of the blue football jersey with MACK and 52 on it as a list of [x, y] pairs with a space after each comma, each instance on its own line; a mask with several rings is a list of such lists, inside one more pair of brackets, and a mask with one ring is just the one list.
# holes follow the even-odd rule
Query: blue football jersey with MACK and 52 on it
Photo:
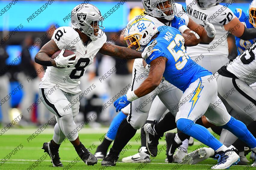
[[[184, 47], [184, 37], [179, 30], [173, 27], [160, 26], [158, 31], [160, 32], [158, 37], [152, 40], [157, 41], [157, 44], [153, 48], [152, 54], [145, 61], [150, 64], [158, 57], [167, 58], [163, 74], [165, 80], [185, 91], [199, 77], [212, 75], [210, 71], [196, 64], [189, 57]], [[161, 60], [158, 61], [161, 62]]]

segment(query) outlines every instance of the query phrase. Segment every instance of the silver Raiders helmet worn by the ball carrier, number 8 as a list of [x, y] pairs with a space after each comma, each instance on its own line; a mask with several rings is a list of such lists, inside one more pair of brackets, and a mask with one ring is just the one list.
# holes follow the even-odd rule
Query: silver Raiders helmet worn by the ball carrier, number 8
[[[103, 18], [100, 10], [92, 4], [79, 4], [71, 11], [71, 24], [73, 28], [79, 29], [95, 41], [102, 37], [105, 27], [102, 26]], [[93, 28], [93, 26], [98, 28]], [[94, 34], [94, 29], [98, 29], [98, 35]]]

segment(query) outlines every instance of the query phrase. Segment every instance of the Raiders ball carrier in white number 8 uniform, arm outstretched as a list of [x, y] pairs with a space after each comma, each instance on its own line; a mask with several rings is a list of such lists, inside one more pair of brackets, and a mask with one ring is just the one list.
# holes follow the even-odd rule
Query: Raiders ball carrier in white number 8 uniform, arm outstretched
[[[51, 142], [45, 142], [42, 147], [51, 157], [54, 167], [63, 166], [58, 150], [65, 138], [73, 144], [77, 154], [87, 165], [97, 163], [96, 157], [80, 142], [74, 122], [79, 112], [80, 79], [92, 64], [96, 53], [99, 51], [105, 55], [126, 59], [142, 57], [141, 53], [135, 50], [106, 43], [103, 18], [94, 5], [77, 5], [72, 13], [75, 14], [71, 17], [72, 27], [56, 29], [52, 40], [35, 56], [38, 64], [47, 66], [39, 84], [40, 97], [57, 120], [53, 139]], [[75, 54], [63, 57], [65, 49]], [[59, 50], [61, 53], [52, 59], [51, 56]], [[69, 60], [75, 55], [75, 60]], [[48, 94], [49, 91], [51, 94]]]

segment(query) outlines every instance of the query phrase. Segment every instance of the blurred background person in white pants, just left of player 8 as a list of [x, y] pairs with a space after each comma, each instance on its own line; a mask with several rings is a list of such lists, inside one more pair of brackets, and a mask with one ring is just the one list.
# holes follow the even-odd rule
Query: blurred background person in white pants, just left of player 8
[[[43, 67], [31, 58], [31, 53], [28, 51], [28, 47], [33, 45], [34, 39], [30, 35], [26, 35], [22, 51], [21, 51], [21, 63], [18, 65], [20, 72], [18, 73], [18, 80], [24, 86], [23, 97], [20, 103], [20, 109], [23, 115], [23, 119], [20, 121], [22, 126], [31, 124], [31, 115], [33, 109], [28, 109], [31, 103], [34, 103], [35, 95], [38, 94], [38, 85], [41, 78], [44, 75]], [[37, 70], [37, 71], [36, 71]], [[39, 71], [40, 70], [40, 71]], [[38, 124], [44, 124], [47, 122], [44, 115], [45, 107], [41, 104], [38, 105]]]

